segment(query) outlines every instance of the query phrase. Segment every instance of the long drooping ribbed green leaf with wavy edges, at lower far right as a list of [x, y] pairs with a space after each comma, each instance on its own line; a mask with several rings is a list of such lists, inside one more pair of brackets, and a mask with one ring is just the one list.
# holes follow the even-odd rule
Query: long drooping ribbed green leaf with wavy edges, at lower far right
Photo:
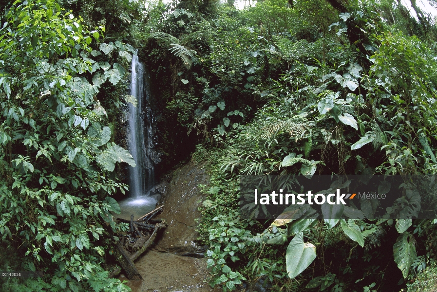
[[414, 238], [408, 232], [402, 233], [393, 246], [393, 256], [404, 278], [410, 272], [410, 266], [417, 257]]

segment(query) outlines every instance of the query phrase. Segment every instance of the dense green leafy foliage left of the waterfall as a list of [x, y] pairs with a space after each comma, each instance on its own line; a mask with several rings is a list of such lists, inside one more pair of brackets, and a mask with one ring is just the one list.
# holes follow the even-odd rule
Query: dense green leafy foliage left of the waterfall
[[[103, 42], [103, 26], [90, 31], [56, 1], [15, 1], [4, 19], [1, 270], [46, 276], [2, 280], [2, 289], [126, 291], [104, 270], [112, 235], [124, 228], [114, 222], [110, 212], [119, 207], [109, 195], [127, 189], [110, 172], [117, 161], [135, 163], [114, 143], [96, 97], [125, 78], [133, 48]], [[118, 97], [112, 103], [122, 105]]]

